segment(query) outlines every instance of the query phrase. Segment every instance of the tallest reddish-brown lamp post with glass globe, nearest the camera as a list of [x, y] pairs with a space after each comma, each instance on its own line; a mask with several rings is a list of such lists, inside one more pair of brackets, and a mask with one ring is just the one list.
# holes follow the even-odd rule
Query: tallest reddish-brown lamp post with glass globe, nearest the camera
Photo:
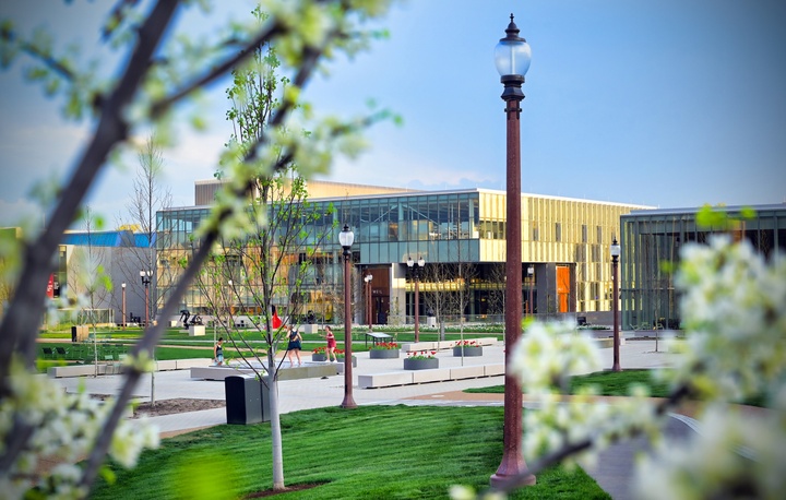
[[[505, 102], [507, 117], [507, 221], [505, 246], [505, 367], [510, 367], [513, 346], [521, 336], [522, 320], [522, 245], [521, 245], [521, 126], [519, 107], [524, 93], [522, 84], [529, 69], [532, 52], [526, 40], [519, 36], [519, 27], [511, 22], [505, 37], [495, 48], [495, 66], [504, 85], [502, 100]], [[502, 461], [491, 476], [491, 485], [526, 473], [522, 456], [522, 404], [521, 386], [515, 376], [505, 369], [504, 427]], [[534, 485], [535, 476], [529, 475], [523, 484]]]

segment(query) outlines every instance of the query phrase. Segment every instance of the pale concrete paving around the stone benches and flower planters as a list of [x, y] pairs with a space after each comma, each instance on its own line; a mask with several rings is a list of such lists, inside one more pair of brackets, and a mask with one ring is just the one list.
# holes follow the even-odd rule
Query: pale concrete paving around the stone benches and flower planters
[[[626, 336], [630, 337], [628, 333]], [[655, 352], [655, 341], [628, 340], [620, 346], [620, 360], [623, 369], [659, 368], [669, 365], [671, 354], [665, 353], [664, 343], [659, 344], [659, 352]], [[602, 349], [604, 366], [611, 366], [612, 349]], [[402, 355], [403, 356], [403, 355]], [[380, 389], [359, 389], [358, 374], [386, 372], [402, 369], [402, 359], [369, 359], [368, 353], [357, 353], [357, 367], [353, 369], [354, 389], [353, 397], [358, 405], [462, 405], [462, 406], [502, 406], [501, 394], [466, 394], [462, 391], [468, 388], [484, 388], [501, 385], [504, 378], [488, 377], [480, 379], [465, 379], [458, 381], [432, 382], [413, 385], [400, 385]], [[437, 354], [440, 368], [461, 366], [461, 358], [455, 358], [451, 350]], [[305, 353], [303, 360], [310, 359]], [[504, 352], [502, 343], [484, 347], [483, 357], [464, 358], [464, 365], [483, 365], [502, 362]], [[286, 368], [285, 368], [286, 369]], [[92, 394], [115, 394], [122, 383], [121, 376], [84, 377], [57, 379], [69, 392], [76, 391], [80, 384]], [[150, 400], [151, 376], [144, 376], [136, 385], [133, 394], [141, 401]], [[285, 380], [278, 383], [279, 405], [282, 414], [300, 409], [338, 406], [344, 398], [344, 376], [337, 374], [326, 379]], [[207, 400], [224, 400], [224, 381], [206, 381], [191, 379], [190, 370], [162, 371], [155, 374], [156, 400], [176, 397], [192, 397]], [[525, 407], [533, 407], [528, 402]], [[214, 408], [201, 412], [181, 413], [152, 417], [162, 436], [167, 437], [181, 431], [193, 430], [210, 426], [226, 424], [226, 408]], [[688, 432], [683, 422], [674, 420], [670, 432]], [[616, 500], [632, 498], [628, 486], [633, 466], [633, 454], [642, 449], [643, 442], [629, 442], [618, 444], [604, 452], [594, 467], [585, 467], [611, 497]]]

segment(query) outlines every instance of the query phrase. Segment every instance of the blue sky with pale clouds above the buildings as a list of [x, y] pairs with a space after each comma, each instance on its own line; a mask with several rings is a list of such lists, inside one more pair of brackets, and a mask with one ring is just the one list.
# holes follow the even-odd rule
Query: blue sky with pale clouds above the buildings
[[[47, 3], [46, 9], [31, 8]], [[247, 15], [225, 0], [190, 31]], [[0, 3], [0, 16], [44, 24], [56, 39], [99, 50], [106, 2]], [[505, 189], [505, 115], [493, 48], [510, 14], [532, 48], [521, 114], [522, 191], [663, 209], [786, 202], [786, 2], [779, 0], [409, 0], [377, 27], [390, 37], [326, 64], [305, 97], [318, 112], [352, 116], [373, 99], [403, 118], [367, 136], [370, 150], [322, 177], [409, 189]], [[112, 59], [110, 58], [110, 61]], [[117, 60], [117, 57], [115, 58]], [[90, 121], [0, 72], [0, 225], [35, 214], [35, 182], [67, 176]], [[108, 64], [107, 73], [117, 66]], [[183, 128], [164, 154], [174, 206], [193, 204], [230, 127], [227, 82], [207, 94], [210, 128]], [[88, 203], [122, 218], [134, 158], [108, 167]], [[45, 215], [38, 215], [41, 221]]]

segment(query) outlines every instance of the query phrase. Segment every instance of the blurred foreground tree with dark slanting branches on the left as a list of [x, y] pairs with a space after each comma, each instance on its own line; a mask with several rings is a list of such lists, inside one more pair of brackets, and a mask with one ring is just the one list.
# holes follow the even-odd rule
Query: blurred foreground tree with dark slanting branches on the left
[[[199, 2], [199, 5], [206, 3]], [[103, 410], [95, 410], [95, 406], [83, 397], [58, 394], [53, 384], [32, 377], [36, 337], [46, 309], [47, 283], [55, 271], [52, 258], [63, 233], [74, 221], [85, 194], [110, 155], [120, 153], [132, 133], [150, 124], [156, 127], [162, 136], [171, 136], [168, 127], [176, 105], [181, 108], [188, 104], [194, 93], [248, 61], [257, 48], [266, 44], [279, 48], [283, 66], [290, 73], [288, 92], [270, 117], [269, 131], [258, 143], [248, 147], [246, 154], [235, 151], [225, 155], [226, 169], [233, 179], [229, 188], [233, 197], [219, 200], [210, 219], [200, 228], [202, 246], [162, 308], [160, 316], [167, 318], [178, 310], [189, 283], [210, 255], [214, 243], [222, 237], [231, 239], [243, 235], [248, 227], [248, 214], [245, 203], [238, 203], [238, 200], [248, 199], [261, 172], [272, 175], [290, 162], [295, 162], [303, 175], [324, 171], [330, 165], [332, 151], [356, 154], [360, 145], [357, 132], [386, 116], [379, 112], [370, 118], [315, 122], [309, 126], [309, 138], [291, 134], [286, 141], [279, 141], [285, 135], [283, 132], [288, 127], [291, 111], [298, 105], [300, 90], [312, 75], [320, 58], [326, 52], [354, 52], [365, 47], [370, 36], [359, 23], [382, 15], [388, 2], [269, 2], [271, 16], [261, 27], [233, 25], [230, 36], [205, 39], [209, 37], [201, 35], [199, 44], [182, 34], [165, 37], [176, 29], [176, 20], [188, 19], [176, 15], [178, 10], [194, 5], [188, 3], [181, 7], [174, 0], [159, 0], [152, 5], [119, 0], [102, 28], [106, 41], [120, 50], [126, 49], [123, 57], [119, 58], [119, 71], [115, 73], [118, 76], [108, 83], [100, 82], [93, 74], [93, 68], [100, 64], [88, 64], [85, 69], [74, 62], [70, 57], [71, 45], [56, 46], [48, 37], [22, 33], [11, 20], [0, 22], [0, 62], [3, 67], [22, 56], [31, 58], [34, 68], [28, 72], [29, 78], [43, 82], [49, 93], [64, 96], [63, 111], [67, 116], [81, 119], [85, 114], [94, 114], [96, 117], [94, 131], [70, 170], [70, 177], [57, 190], [58, 198], [46, 200], [52, 206], [47, 226], [35, 238], [16, 247], [21, 252], [21, 271], [8, 312], [0, 323], [0, 341], [5, 346], [0, 350], [0, 415], [7, 422], [1, 434], [3, 455], [0, 456], [0, 478], [4, 481], [3, 487], [9, 486], [3, 488], [9, 496], [21, 497], [34, 486], [39, 488], [40, 495], [55, 489], [62, 495], [87, 496], [107, 453], [130, 466], [141, 449], [155, 445], [154, 433], [128, 431], [128, 422], [121, 422], [120, 417], [141, 374], [151, 368], [153, 348], [165, 328], [163, 323], [147, 325], [144, 336], [130, 353], [124, 382], [115, 404], [106, 406], [106, 419]], [[202, 119], [195, 116], [192, 124], [201, 127]], [[275, 154], [271, 154], [273, 144]], [[11, 376], [15, 380], [36, 380], [37, 383], [12, 384]], [[35, 398], [26, 392], [31, 390], [37, 391]], [[33, 401], [36, 403], [31, 403]], [[34, 407], [27, 406], [29, 404]], [[35, 404], [46, 404], [47, 410], [32, 413]], [[34, 438], [40, 432], [51, 432], [56, 421], [62, 425], [63, 412], [76, 412], [82, 407], [80, 405], [86, 405], [85, 418], [68, 420], [72, 428], [64, 433], [70, 437], [78, 431], [84, 432], [95, 440], [50, 440], [47, 450], [68, 449], [75, 456], [86, 453], [84, 467], [71, 468], [55, 481], [32, 478], [24, 467], [20, 467], [41, 451], [40, 441]], [[116, 430], [119, 433], [114, 439]]]

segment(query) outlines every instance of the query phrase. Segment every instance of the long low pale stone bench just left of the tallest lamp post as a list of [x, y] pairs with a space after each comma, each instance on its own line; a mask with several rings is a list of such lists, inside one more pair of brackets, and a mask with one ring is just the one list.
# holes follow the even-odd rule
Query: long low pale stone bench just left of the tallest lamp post
[[360, 389], [390, 388], [413, 383], [444, 382], [450, 380], [478, 379], [504, 374], [504, 364], [474, 365], [430, 370], [388, 371], [358, 376]]

